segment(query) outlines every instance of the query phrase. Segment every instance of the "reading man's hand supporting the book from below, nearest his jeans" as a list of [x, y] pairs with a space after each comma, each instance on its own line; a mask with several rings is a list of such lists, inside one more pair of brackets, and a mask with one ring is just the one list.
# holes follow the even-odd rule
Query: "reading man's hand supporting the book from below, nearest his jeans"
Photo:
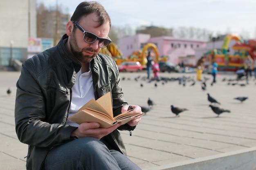
[[78, 128], [72, 132], [71, 137], [94, 137], [96, 139], [101, 139], [102, 137], [113, 132], [119, 126], [121, 126], [121, 123], [115, 124], [109, 128], [100, 128], [99, 123], [97, 122], [85, 122], [80, 124]]

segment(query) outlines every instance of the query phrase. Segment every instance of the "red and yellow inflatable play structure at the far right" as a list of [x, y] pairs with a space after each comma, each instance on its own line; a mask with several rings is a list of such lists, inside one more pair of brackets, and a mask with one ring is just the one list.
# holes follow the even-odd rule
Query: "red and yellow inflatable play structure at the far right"
[[[231, 48], [236, 52], [234, 54], [229, 54], [229, 42], [230, 40], [235, 40]], [[236, 71], [238, 68], [243, 66], [244, 58], [246, 55], [251, 55], [255, 60], [256, 52], [256, 40], [243, 40], [237, 34], [229, 34], [224, 38], [224, 42], [221, 50], [213, 49], [205, 53], [208, 56], [209, 63], [212, 64], [216, 62], [218, 68], [225, 71]]]

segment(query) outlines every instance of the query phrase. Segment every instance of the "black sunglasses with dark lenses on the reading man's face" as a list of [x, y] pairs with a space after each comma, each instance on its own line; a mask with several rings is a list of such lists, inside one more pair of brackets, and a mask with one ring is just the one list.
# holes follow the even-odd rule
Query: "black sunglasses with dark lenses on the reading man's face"
[[111, 43], [111, 40], [110, 38], [109, 39], [106, 39], [106, 38], [99, 38], [97, 35], [93, 34], [93, 33], [90, 33], [90, 32], [87, 32], [87, 31], [84, 31], [84, 29], [79, 25], [77, 24], [76, 22], [72, 21], [75, 26], [80, 29], [84, 35], [83, 35], [83, 40], [89, 44], [92, 44], [94, 43], [95, 41], [99, 40], [99, 47], [101, 48], [105, 48], [106, 46], [108, 46], [109, 43]]

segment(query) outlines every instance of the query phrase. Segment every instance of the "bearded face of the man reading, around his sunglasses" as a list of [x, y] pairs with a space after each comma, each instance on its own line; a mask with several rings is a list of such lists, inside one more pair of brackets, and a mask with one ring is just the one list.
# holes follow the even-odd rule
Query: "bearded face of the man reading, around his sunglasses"
[[[110, 30], [109, 23], [107, 22], [106, 24], [97, 27], [97, 19], [97, 15], [92, 13], [83, 17], [78, 24], [85, 31], [93, 33], [100, 38], [107, 38]], [[74, 26], [74, 29], [68, 39], [70, 41], [70, 50], [74, 57], [76, 57], [76, 59], [81, 63], [88, 63], [99, 53], [101, 47], [98, 45], [99, 40], [89, 44], [83, 40], [83, 35], [84, 33]]]

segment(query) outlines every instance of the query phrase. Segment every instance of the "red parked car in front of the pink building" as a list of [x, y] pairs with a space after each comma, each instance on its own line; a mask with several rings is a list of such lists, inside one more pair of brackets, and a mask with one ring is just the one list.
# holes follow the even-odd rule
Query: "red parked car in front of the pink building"
[[140, 72], [144, 67], [139, 62], [127, 61], [118, 65], [118, 69], [120, 72]]

